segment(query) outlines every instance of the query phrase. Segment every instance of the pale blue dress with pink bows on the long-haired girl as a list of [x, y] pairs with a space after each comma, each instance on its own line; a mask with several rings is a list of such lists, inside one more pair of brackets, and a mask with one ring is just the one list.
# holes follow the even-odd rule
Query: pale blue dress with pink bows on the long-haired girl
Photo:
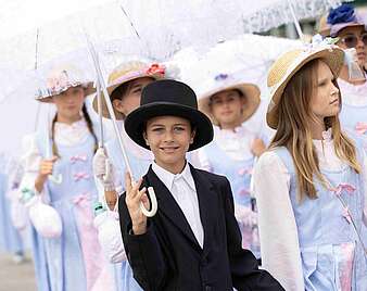
[[[362, 161], [362, 146], [358, 160]], [[290, 173], [290, 199], [295, 217], [301, 263], [307, 291], [367, 290], [367, 258], [352, 224], [336, 192], [315, 182], [317, 199], [305, 198], [300, 203], [296, 195], [296, 176], [293, 160], [286, 148], [275, 153]], [[341, 170], [321, 170], [333, 188], [347, 184], [354, 191], [340, 188], [340, 198], [349, 206], [356, 229], [365, 240], [367, 232], [363, 224], [364, 181], [351, 167]], [[365, 240], [366, 241], [366, 240]]]

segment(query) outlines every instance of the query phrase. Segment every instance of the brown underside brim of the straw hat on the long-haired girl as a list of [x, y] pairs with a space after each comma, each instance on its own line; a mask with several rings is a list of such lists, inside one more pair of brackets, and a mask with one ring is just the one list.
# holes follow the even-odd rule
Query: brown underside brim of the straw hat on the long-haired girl
[[295, 73], [300, 71], [301, 67], [316, 59], [322, 60], [330, 67], [333, 76], [338, 78], [339, 73], [344, 64], [344, 51], [339, 48], [333, 48], [331, 51], [330, 49], [322, 49], [301, 60], [295, 66], [291, 68], [289, 74], [286, 74], [287, 77], [279, 83], [279, 86], [275, 88], [270, 94], [270, 104], [266, 113], [266, 123], [273, 129], [277, 129], [278, 127], [278, 104], [288, 83], [295, 75]]

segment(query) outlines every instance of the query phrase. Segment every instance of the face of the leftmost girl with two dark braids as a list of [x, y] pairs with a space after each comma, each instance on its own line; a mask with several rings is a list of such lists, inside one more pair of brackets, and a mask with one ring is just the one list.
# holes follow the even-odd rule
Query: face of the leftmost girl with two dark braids
[[58, 115], [66, 119], [75, 119], [80, 115], [85, 92], [78, 87], [71, 87], [59, 96], [53, 97], [53, 103], [58, 109]]

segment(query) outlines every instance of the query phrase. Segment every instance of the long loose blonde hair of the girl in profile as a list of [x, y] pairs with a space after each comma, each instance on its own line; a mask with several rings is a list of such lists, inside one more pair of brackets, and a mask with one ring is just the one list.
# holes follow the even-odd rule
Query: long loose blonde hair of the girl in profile
[[[309, 103], [317, 84], [319, 62], [320, 60], [313, 60], [305, 64], [286, 86], [277, 104], [278, 128], [269, 146], [270, 149], [286, 147], [290, 151], [295, 166], [298, 192], [301, 200], [305, 194], [311, 199], [317, 198], [314, 178], [321, 181], [325, 187], [329, 186], [319, 169], [308, 126], [309, 119], [313, 118]], [[339, 88], [337, 80], [334, 80], [334, 86]], [[341, 96], [339, 99], [341, 104]], [[341, 130], [338, 115], [326, 117], [325, 126], [327, 129], [331, 128], [337, 156], [356, 173], [360, 173], [356, 149], [352, 140]]]

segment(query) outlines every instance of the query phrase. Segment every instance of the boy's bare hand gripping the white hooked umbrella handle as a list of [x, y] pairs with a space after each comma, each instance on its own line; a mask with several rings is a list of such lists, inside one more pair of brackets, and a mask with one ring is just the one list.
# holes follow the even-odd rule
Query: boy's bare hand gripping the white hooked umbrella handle
[[136, 185], [132, 185], [129, 173], [125, 174], [125, 189], [126, 189], [126, 205], [129, 211], [134, 235], [143, 235], [147, 231], [147, 216], [140, 210], [142, 202], [145, 208], [150, 207], [149, 199], [147, 197], [147, 188], [139, 190], [142, 179]]

